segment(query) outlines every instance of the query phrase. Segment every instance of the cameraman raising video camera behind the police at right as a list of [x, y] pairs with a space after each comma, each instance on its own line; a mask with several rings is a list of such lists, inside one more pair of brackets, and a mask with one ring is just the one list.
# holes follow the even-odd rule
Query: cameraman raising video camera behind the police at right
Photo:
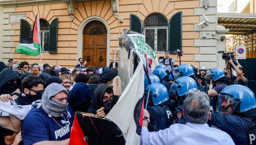
[[[237, 62], [238, 65], [234, 64], [233, 63], [233, 60]], [[246, 70], [244, 69], [243, 66], [241, 66], [238, 62], [237, 59], [229, 59], [227, 61], [227, 64], [226, 64], [226, 72], [228, 74], [228, 77], [232, 77], [232, 81], [231, 81], [231, 84], [232, 85], [243, 85], [243, 86], [247, 86], [248, 84], [248, 79], [244, 77], [245, 75], [245, 72]], [[230, 68], [229, 68], [229, 64], [231, 64], [233, 67], [234, 67], [234, 70], [236, 70], [236, 73], [237, 73], [237, 77], [233, 76], [230, 72]]]

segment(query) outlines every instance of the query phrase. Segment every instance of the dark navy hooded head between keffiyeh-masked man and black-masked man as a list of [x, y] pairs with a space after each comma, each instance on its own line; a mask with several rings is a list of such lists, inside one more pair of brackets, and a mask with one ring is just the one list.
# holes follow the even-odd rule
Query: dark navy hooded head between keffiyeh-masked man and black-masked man
[[86, 83], [78, 82], [69, 92], [68, 103], [75, 111], [87, 112], [92, 92]]

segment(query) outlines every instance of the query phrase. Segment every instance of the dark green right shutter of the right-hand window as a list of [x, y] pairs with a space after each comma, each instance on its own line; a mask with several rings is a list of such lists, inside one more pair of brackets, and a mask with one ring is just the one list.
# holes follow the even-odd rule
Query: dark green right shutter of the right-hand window
[[182, 50], [182, 12], [178, 12], [169, 20], [169, 52]]

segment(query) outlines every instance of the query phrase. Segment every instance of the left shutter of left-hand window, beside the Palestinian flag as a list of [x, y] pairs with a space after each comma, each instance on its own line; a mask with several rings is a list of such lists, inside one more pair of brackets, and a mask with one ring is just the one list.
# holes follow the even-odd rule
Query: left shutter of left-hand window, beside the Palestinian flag
[[22, 40], [25, 38], [33, 37], [31, 32], [31, 26], [28, 21], [25, 19], [20, 19], [20, 28], [19, 28], [19, 43], [22, 43]]

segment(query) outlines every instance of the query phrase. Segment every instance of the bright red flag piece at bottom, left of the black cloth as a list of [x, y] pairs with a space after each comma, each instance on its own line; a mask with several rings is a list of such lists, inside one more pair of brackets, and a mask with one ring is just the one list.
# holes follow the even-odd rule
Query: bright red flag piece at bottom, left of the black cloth
[[75, 115], [74, 123], [71, 130], [69, 144], [79, 144], [79, 145], [88, 145], [87, 141], [84, 141], [84, 135], [82, 129], [78, 123], [77, 117]]

